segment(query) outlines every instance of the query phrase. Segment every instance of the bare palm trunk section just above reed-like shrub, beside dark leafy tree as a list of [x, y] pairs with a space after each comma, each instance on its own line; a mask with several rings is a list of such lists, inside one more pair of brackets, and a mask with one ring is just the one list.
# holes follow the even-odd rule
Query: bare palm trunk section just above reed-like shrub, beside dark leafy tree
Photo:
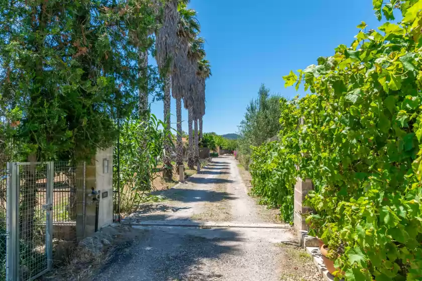
[[139, 79], [138, 88], [138, 114], [140, 119], [144, 119], [148, 110], [148, 51], [139, 51]]

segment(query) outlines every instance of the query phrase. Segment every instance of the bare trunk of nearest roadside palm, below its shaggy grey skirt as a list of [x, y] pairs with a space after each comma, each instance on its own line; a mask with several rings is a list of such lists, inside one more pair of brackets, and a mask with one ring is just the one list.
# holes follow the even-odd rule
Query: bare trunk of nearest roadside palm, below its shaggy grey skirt
[[[167, 75], [164, 81], [164, 120], [166, 122], [167, 128], [169, 129], [171, 126], [170, 123], [170, 102], [171, 102], [171, 96], [170, 96], [170, 87], [171, 87], [171, 78], [170, 75]], [[171, 181], [173, 179], [173, 167], [171, 166], [171, 138], [170, 135], [168, 135], [164, 141], [164, 171], [163, 171], [163, 177], [167, 181]]]

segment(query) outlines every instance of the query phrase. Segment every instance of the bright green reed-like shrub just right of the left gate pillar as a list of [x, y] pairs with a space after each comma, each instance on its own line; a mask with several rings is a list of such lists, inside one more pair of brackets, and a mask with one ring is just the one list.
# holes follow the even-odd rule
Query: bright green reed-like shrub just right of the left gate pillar
[[[156, 178], [162, 178], [164, 143], [171, 137], [170, 128], [148, 113], [145, 119], [124, 119], [120, 133], [120, 174], [114, 167], [114, 189], [120, 189], [120, 211], [124, 215], [136, 212], [140, 204], [150, 201]], [[114, 147], [117, 156], [117, 146]], [[117, 162], [116, 162], [117, 163]], [[119, 182], [120, 177], [120, 182]], [[118, 187], [118, 185], [120, 186]]]

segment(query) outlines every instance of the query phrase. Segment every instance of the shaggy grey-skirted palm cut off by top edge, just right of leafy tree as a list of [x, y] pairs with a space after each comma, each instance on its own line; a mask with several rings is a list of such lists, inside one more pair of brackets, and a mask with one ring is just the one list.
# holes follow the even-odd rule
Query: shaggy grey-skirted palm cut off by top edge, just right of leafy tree
[[[161, 76], [164, 78], [164, 119], [167, 127], [170, 128], [170, 87], [171, 74], [176, 68], [173, 56], [176, 53], [177, 30], [179, 23], [179, 13], [177, 11], [178, 0], [166, 0], [163, 5], [162, 26], [156, 31], [155, 49], [157, 65]], [[170, 152], [171, 145], [169, 141], [164, 144], [164, 172], [163, 177], [166, 180], [172, 179], [173, 169], [171, 166]]]

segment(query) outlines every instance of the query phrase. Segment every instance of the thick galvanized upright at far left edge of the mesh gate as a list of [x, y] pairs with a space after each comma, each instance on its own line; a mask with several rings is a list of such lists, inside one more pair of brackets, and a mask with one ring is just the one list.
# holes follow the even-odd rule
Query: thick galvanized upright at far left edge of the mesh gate
[[8, 163], [6, 279], [19, 280], [19, 166]]

